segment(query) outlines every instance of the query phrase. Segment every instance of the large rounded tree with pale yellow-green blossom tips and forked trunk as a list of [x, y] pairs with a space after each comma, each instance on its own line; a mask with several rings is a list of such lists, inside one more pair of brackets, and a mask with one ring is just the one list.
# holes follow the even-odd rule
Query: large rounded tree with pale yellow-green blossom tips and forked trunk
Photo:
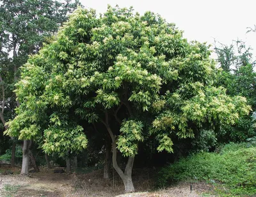
[[[195, 129], [248, 114], [244, 97], [212, 86], [209, 55], [204, 43], [188, 43], [154, 13], [109, 6], [97, 17], [78, 9], [22, 67], [15, 90], [21, 105], [6, 133], [67, 155], [86, 148], [81, 125], [100, 124], [111, 137], [113, 167], [132, 192], [134, 157], [145, 138], [155, 137], [159, 152], [172, 152], [173, 136], [193, 138]], [[127, 157], [124, 171], [118, 150]]]

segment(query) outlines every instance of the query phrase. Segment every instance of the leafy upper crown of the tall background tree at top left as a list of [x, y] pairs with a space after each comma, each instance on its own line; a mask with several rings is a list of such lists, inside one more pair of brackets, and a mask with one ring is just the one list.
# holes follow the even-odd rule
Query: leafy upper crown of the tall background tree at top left
[[25, 63], [28, 54], [38, 52], [45, 38], [58, 31], [78, 1], [1, 0], [0, 38], [6, 52], [15, 52], [13, 64]]

